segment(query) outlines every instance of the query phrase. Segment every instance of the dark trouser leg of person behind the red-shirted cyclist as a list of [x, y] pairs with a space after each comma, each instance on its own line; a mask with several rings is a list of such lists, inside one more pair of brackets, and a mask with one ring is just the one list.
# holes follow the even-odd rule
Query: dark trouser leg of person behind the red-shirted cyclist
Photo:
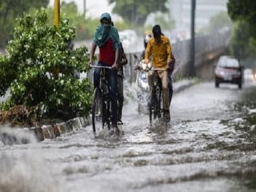
[[117, 120], [121, 121], [123, 111], [123, 77], [117, 75]]

